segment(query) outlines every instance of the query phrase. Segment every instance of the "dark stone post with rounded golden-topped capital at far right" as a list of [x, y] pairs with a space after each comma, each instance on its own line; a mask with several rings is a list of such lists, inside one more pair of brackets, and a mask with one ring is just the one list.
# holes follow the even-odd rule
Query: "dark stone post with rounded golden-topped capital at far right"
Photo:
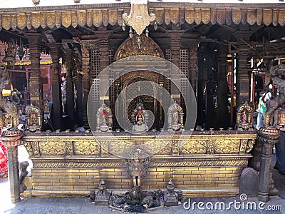
[[257, 198], [262, 202], [269, 200], [269, 188], [274, 190], [272, 182], [270, 183], [270, 171], [271, 171], [271, 157], [272, 147], [274, 143], [277, 143], [279, 138], [279, 130], [274, 127], [261, 128], [259, 131], [259, 138], [262, 145], [261, 161], [259, 169], [259, 188]]

